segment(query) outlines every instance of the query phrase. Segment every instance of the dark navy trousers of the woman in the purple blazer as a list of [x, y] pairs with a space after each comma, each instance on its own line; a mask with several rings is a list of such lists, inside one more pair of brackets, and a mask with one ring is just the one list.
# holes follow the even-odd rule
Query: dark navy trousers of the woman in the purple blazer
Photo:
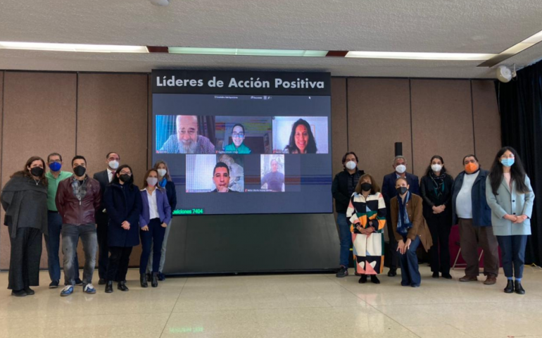
[[139, 261], [139, 273], [145, 273], [151, 246], [153, 248], [153, 273], [158, 273], [160, 269], [160, 256], [162, 256], [162, 243], [164, 242], [165, 227], [159, 218], [153, 218], [149, 222], [149, 231], [139, 230], [141, 236], [141, 258]]

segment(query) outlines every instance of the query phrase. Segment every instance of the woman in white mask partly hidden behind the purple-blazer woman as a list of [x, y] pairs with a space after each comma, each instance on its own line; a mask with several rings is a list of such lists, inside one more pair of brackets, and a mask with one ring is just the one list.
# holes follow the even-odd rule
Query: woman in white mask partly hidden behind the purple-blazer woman
[[[170, 168], [168, 168], [168, 163], [165, 161], [156, 161], [154, 163], [153, 169], [156, 169], [158, 173], [158, 186], [162, 189], [165, 189], [165, 194], [168, 195], [168, 202], [170, 203], [171, 212], [175, 211], [177, 208], [177, 191], [175, 190], [175, 183], [170, 176]], [[168, 245], [168, 237], [170, 236], [171, 221], [168, 223], [168, 226], [165, 227], [164, 241], [162, 242], [162, 250], [160, 255], [160, 267], [158, 268], [158, 280], [165, 280], [165, 276], [162, 273], [165, 262], [165, 249]], [[149, 265], [147, 265], [147, 281], [151, 282], [151, 272], [153, 270], [153, 247], [151, 247], [151, 256], [149, 256]]]

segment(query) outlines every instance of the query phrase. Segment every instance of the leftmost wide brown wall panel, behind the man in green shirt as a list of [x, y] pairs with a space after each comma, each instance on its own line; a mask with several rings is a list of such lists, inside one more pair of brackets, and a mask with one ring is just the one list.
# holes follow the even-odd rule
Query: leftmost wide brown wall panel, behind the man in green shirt
[[[75, 155], [77, 75], [6, 72], [4, 76], [2, 184], [15, 171], [23, 169], [30, 156], [46, 160], [48, 154], [58, 152], [63, 155], [65, 168], [69, 168]], [[2, 269], [9, 266], [9, 255], [4, 249], [10, 247], [5, 228], [1, 227], [0, 235]], [[45, 244], [41, 266], [47, 266]]]

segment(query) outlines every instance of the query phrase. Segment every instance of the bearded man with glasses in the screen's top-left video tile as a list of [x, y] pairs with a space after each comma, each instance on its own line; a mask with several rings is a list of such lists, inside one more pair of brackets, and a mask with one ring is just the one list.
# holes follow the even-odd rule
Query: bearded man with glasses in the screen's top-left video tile
[[164, 143], [160, 152], [168, 154], [215, 154], [215, 146], [207, 137], [198, 135], [196, 115], [177, 115], [177, 134]]

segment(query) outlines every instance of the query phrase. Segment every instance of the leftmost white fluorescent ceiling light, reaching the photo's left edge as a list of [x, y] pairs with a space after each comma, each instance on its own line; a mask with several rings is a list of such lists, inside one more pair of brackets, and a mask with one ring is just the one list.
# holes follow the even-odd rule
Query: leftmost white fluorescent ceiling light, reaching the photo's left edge
[[149, 53], [146, 46], [109, 44], [46, 44], [42, 42], [0, 42], [0, 49], [30, 51], [80, 51], [90, 53]]

